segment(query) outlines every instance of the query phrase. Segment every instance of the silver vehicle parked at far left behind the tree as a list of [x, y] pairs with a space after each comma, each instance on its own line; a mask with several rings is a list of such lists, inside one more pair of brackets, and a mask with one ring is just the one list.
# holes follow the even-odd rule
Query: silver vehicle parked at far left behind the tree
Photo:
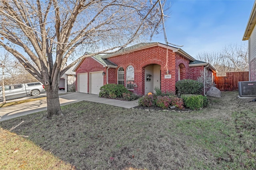
[[[6, 100], [21, 98], [24, 96], [38, 96], [40, 92], [44, 92], [44, 85], [41, 82], [5, 85], [4, 92]], [[3, 91], [0, 87], [0, 101], [3, 100]]]

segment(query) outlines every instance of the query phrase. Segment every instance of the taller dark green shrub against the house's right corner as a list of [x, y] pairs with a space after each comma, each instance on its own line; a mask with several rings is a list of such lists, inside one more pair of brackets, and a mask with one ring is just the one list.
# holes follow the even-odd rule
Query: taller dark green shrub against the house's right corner
[[178, 95], [182, 94], [201, 94], [204, 84], [196, 80], [179, 80], [175, 84]]

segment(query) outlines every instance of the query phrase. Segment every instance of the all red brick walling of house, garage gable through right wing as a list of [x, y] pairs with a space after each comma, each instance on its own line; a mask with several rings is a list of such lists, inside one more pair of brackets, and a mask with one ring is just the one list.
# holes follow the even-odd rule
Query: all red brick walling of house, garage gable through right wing
[[[134, 82], [138, 87], [131, 90], [137, 95], [144, 95], [145, 88], [145, 70], [144, 68], [149, 64], [158, 64], [161, 66], [161, 90], [162, 92], [175, 92], [175, 83], [178, 81], [178, 66], [181, 67], [180, 79], [193, 79], [196, 80], [200, 76], [200, 71], [204, 69], [204, 66], [189, 67], [189, 60], [184, 56], [173, 53], [172, 50], [168, 49], [168, 61], [166, 61], [166, 49], [160, 46], [150, 47], [147, 49], [142, 49], [134, 51], [131, 53], [126, 53], [124, 55], [118, 55], [108, 58], [108, 60], [118, 65], [118, 68], [122, 66], [124, 68], [124, 80], [126, 80], [126, 68], [129, 65], [134, 67]], [[118, 68], [108, 69], [108, 83], [117, 84], [117, 70]], [[76, 75], [78, 73], [85, 72], [96, 72], [104, 71], [106, 72], [106, 67], [104, 68], [100, 63], [92, 58], [86, 58], [78, 66], [76, 70]], [[170, 79], [165, 79], [164, 75], [166, 71], [169, 70], [171, 75]], [[89, 74], [88, 74], [89, 83]], [[104, 84], [106, 82], [106, 74], [104, 76]], [[126, 81], [124, 81], [126, 86]], [[76, 84], [77, 88], [77, 84]], [[89, 90], [89, 84], [88, 84]]]

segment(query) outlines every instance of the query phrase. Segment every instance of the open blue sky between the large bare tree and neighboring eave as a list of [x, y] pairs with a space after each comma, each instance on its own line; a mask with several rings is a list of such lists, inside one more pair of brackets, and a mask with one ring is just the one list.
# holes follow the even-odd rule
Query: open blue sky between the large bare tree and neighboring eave
[[[172, 0], [165, 22], [167, 39], [183, 45], [181, 49], [194, 58], [201, 51], [240, 45], [253, 4], [254, 0]], [[164, 34], [153, 41], [164, 43]]]

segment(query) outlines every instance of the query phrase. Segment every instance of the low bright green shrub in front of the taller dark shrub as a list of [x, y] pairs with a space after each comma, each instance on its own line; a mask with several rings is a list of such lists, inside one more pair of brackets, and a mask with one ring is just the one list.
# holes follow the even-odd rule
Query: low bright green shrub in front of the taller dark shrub
[[192, 110], [197, 110], [208, 105], [208, 98], [202, 95], [183, 94], [181, 95], [184, 105]]

